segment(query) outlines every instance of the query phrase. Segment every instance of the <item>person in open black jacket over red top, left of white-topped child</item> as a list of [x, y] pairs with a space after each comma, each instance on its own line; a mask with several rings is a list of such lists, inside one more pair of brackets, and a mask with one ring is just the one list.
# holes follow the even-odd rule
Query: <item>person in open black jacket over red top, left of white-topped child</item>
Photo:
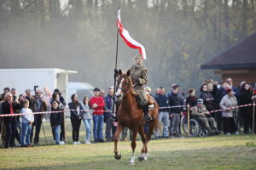
[[[20, 110], [20, 105], [13, 102], [13, 95], [5, 94], [4, 102], [2, 104], [3, 114], [15, 114], [16, 110]], [[6, 128], [5, 148], [15, 147], [15, 133], [16, 133], [16, 116], [3, 117], [3, 122]]]

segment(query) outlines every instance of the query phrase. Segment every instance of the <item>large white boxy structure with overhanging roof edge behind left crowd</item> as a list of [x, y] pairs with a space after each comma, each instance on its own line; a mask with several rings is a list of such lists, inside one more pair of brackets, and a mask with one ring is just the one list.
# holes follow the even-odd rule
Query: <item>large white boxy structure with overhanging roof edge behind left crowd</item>
[[43, 90], [49, 88], [52, 93], [55, 88], [61, 90], [62, 96], [67, 101], [68, 75], [77, 74], [78, 71], [68, 71], [58, 68], [35, 68], [35, 69], [0, 69], [0, 89], [16, 88], [18, 94], [25, 94], [25, 90], [34, 88]]

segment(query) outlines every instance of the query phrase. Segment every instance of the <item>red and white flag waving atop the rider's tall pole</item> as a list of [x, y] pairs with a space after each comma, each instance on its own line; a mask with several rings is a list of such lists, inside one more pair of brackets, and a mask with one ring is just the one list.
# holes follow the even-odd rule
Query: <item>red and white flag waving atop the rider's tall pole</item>
[[140, 54], [143, 55], [143, 59], [147, 59], [144, 46], [142, 44], [140, 44], [139, 42], [137, 42], [136, 40], [134, 40], [130, 36], [129, 32], [127, 30], [125, 30], [125, 28], [123, 27], [123, 25], [121, 23], [120, 8], [119, 8], [119, 12], [118, 12], [118, 20], [117, 20], [116, 26], [119, 28], [120, 36], [124, 39], [126, 45], [129, 46], [130, 48], [138, 49]]

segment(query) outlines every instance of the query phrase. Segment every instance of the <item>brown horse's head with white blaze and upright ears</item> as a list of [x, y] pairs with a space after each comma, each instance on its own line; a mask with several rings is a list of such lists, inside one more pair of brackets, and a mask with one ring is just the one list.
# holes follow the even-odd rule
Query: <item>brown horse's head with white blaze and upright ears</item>
[[123, 94], [126, 94], [129, 90], [131, 90], [132, 82], [130, 77], [130, 71], [123, 73], [121, 70], [119, 70], [116, 87], [116, 95], [119, 95], [121, 92], [123, 92]]

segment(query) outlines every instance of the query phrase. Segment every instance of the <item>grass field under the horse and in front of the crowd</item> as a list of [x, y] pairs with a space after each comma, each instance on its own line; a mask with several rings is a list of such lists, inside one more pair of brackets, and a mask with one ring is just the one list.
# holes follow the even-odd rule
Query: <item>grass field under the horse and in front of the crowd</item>
[[[45, 131], [50, 140], [46, 125]], [[130, 142], [119, 142], [119, 161], [113, 158], [113, 143], [0, 149], [0, 169], [256, 169], [253, 143], [256, 135], [151, 140], [148, 161], [136, 160], [135, 166], [129, 164]], [[141, 148], [137, 141], [136, 156]]]

